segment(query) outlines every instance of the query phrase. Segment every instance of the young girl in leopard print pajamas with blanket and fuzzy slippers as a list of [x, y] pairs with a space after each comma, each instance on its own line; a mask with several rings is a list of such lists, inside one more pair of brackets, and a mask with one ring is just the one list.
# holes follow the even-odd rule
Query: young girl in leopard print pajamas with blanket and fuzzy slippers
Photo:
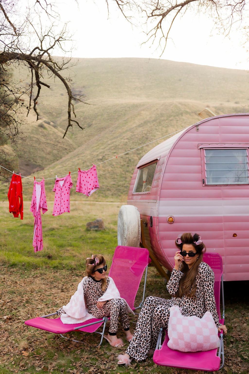
[[[102, 255], [92, 255], [85, 263], [87, 276], [79, 283], [70, 302], [57, 310], [57, 313], [61, 315], [63, 323], [81, 323], [89, 318], [110, 316], [109, 333], [104, 337], [113, 347], [123, 346], [122, 340], [116, 336], [118, 317], [120, 316], [127, 341], [131, 341], [128, 310], [132, 310], [126, 301], [120, 298], [113, 279], [106, 275], [105, 258]], [[85, 305], [81, 305], [84, 304], [83, 300]]]

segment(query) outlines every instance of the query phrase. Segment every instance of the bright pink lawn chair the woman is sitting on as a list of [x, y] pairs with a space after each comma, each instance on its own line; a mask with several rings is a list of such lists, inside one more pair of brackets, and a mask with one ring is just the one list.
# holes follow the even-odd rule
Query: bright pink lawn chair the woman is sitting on
[[[224, 325], [224, 290], [222, 278], [222, 258], [218, 253], [205, 253], [203, 261], [206, 262], [214, 271], [214, 296], [220, 323]], [[221, 319], [220, 313], [220, 286], [222, 294], [223, 315]], [[161, 329], [158, 337], [158, 343], [153, 355], [153, 361], [157, 365], [168, 366], [173, 368], [215, 371], [224, 365], [224, 344], [223, 334], [220, 333], [220, 347], [205, 352], [180, 352], [172, 350], [167, 346], [169, 341], [167, 331], [165, 331], [165, 340], [161, 344], [163, 329]], [[218, 356], [217, 356], [217, 350]], [[222, 364], [220, 365], [222, 357]]]

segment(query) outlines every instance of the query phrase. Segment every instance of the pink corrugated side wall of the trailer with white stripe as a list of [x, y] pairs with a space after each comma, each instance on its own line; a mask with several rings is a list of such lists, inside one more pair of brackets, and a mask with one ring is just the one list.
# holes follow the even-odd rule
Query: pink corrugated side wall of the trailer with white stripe
[[[174, 265], [175, 238], [197, 232], [209, 252], [222, 256], [224, 280], [249, 279], [249, 186], [202, 186], [201, 143], [248, 142], [249, 115], [223, 116], [199, 124], [178, 139], [165, 165], [158, 206], [156, 256]], [[173, 224], [167, 217], [173, 215]], [[233, 237], [236, 233], [237, 237]], [[234, 249], [236, 251], [234, 252]], [[160, 253], [159, 253], [160, 252]]]

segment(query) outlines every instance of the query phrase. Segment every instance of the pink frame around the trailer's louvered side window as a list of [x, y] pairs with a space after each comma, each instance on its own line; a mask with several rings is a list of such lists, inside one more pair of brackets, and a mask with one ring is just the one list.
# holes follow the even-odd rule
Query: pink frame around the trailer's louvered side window
[[202, 164], [202, 186], [212, 187], [212, 186], [248, 186], [249, 185], [249, 170], [248, 170], [248, 183], [217, 183], [217, 184], [207, 184], [206, 183], [206, 165], [205, 165], [205, 149], [245, 149], [246, 155], [248, 157], [247, 165], [249, 169], [249, 143], [209, 143], [209, 144], [198, 144], [201, 154], [201, 164]]

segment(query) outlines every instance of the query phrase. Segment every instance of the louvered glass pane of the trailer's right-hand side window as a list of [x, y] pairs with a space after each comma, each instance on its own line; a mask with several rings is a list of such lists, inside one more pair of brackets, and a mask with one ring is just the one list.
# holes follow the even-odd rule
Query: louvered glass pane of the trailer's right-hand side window
[[205, 149], [206, 184], [248, 184], [246, 149]]

